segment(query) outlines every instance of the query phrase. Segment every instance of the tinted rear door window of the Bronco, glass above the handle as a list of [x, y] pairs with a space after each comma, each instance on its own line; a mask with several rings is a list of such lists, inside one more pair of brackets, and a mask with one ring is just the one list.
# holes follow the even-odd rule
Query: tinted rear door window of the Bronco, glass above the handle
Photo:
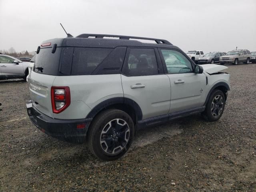
[[124, 65], [124, 74], [129, 76], [158, 74], [154, 49], [131, 48], [128, 61]]

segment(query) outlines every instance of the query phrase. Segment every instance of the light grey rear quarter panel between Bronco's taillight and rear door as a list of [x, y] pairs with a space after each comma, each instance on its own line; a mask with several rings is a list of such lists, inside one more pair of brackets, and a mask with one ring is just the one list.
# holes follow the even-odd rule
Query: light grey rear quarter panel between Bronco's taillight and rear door
[[58, 119], [81, 119], [100, 102], [124, 97], [120, 74], [57, 76], [52, 86], [68, 86], [71, 103], [59, 114]]

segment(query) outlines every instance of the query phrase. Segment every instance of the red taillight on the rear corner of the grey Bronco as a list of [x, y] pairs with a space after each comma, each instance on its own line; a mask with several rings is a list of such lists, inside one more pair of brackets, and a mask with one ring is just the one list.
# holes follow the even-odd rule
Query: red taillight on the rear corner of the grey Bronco
[[51, 88], [52, 112], [60, 113], [70, 105], [69, 87]]

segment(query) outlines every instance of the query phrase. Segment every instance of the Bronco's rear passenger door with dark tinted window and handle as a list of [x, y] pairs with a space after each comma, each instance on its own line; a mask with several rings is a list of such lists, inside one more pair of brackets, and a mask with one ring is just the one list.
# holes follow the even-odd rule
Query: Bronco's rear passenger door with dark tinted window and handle
[[143, 119], [168, 114], [170, 80], [156, 48], [128, 48], [121, 78], [124, 97], [140, 106]]

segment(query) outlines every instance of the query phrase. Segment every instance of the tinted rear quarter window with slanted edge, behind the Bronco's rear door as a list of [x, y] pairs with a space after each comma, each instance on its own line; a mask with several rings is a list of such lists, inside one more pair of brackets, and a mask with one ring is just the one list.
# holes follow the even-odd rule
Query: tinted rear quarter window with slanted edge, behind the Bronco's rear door
[[71, 74], [91, 74], [112, 50], [112, 48], [74, 48]]

